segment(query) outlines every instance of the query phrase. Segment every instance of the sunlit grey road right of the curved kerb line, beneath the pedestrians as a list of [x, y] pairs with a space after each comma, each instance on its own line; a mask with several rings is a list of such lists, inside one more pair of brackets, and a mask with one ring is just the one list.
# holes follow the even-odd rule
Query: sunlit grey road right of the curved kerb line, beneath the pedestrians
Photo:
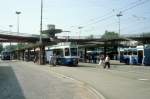
[[150, 99], [150, 67], [113, 65], [103, 69], [93, 64], [58, 66], [51, 71], [92, 86], [105, 99]]

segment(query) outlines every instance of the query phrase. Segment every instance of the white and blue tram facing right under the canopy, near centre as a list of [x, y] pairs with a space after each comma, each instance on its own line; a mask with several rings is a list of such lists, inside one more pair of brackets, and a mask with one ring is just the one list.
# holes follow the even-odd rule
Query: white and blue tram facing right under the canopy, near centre
[[46, 49], [46, 61], [50, 56], [56, 55], [57, 65], [78, 65], [78, 46], [72, 42], [61, 42], [57, 45], [48, 46]]

